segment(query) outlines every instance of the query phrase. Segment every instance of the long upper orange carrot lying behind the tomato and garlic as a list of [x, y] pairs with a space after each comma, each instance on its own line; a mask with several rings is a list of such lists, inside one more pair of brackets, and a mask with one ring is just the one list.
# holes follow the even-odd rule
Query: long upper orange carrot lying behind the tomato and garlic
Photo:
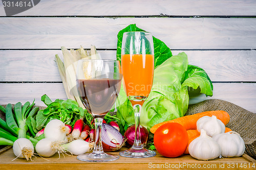
[[192, 114], [192, 115], [187, 115], [187, 116], [182, 116], [173, 120], [168, 120], [159, 124], [156, 124], [155, 126], [153, 126], [150, 131], [154, 134], [156, 132], [156, 130], [166, 124], [166, 123], [171, 123], [171, 122], [176, 122], [181, 124], [182, 126], [184, 126], [184, 128], [186, 130], [190, 130], [190, 129], [197, 129], [197, 120], [203, 116], [212, 116], [215, 115], [218, 119], [221, 120], [221, 122], [223, 122], [223, 124], [226, 126], [229, 122], [229, 114], [223, 110], [215, 110], [215, 111], [205, 111], [205, 112], [201, 112], [201, 113], [196, 113], [196, 114]]

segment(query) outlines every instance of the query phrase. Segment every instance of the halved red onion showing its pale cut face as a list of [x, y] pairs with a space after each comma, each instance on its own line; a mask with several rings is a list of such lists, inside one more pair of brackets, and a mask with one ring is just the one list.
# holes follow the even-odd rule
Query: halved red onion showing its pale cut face
[[102, 124], [101, 141], [104, 152], [118, 151], [124, 144], [122, 134], [109, 124]]

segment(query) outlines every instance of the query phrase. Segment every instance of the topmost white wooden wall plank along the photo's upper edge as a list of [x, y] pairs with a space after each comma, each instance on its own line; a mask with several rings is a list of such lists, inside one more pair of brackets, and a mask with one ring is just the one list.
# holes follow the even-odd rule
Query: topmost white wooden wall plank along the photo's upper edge
[[[226, 1], [40, 1], [38, 5], [15, 16], [134, 16], [134, 15], [256, 15], [256, 4], [253, 0], [226, 0]], [[0, 5], [0, 15], [5, 11]]]

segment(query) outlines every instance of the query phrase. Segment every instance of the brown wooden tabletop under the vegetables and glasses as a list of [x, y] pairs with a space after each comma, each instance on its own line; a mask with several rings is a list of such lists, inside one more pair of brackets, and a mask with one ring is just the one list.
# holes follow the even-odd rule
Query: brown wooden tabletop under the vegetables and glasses
[[[121, 148], [125, 150], [126, 148]], [[119, 154], [119, 152], [112, 152], [111, 154]], [[55, 154], [50, 158], [49, 161], [37, 156], [33, 158], [33, 161], [27, 161], [26, 159], [15, 159], [12, 149], [4, 154], [0, 155], [0, 167], [1, 169], [13, 169], [17, 168], [36, 168], [36, 169], [105, 169], [107, 166], [110, 169], [151, 169], [151, 168], [172, 168], [172, 169], [227, 169], [231, 164], [238, 164], [236, 169], [255, 169], [253, 162], [244, 159], [244, 157], [233, 157], [233, 158], [217, 158], [209, 161], [197, 160], [190, 155], [182, 155], [177, 158], [166, 158], [161, 156], [159, 153], [155, 157], [150, 158], [125, 158], [119, 157], [119, 159], [111, 162], [82, 162], [76, 159], [76, 156], [67, 156]], [[11, 162], [11, 160], [13, 160]], [[241, 166], [240, 166], [241, 165]], [[249, 167], [250, 166], [250, 167]], [[255, 166], [255, 163], [254, 163]], [[203, 168], [202, 168], [203, 167]]]

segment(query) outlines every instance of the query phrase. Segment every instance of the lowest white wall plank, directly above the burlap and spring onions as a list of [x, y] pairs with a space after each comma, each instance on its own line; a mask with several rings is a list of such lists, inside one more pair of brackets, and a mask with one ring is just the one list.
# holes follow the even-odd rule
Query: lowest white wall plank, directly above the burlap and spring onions
[[[45, 106], [41, 96], [47, 94], [53, 101], [55, 99], [67, 99], [62, 83], [0, 83], [0, 104], [17, 103], [27, 101], [38, 106]], [[190, 104], [207, 99], [221, 99], [234, 103], [246, 110], [256, 113], [256, 83], [214, 83], [214, 95], [207, 97], [204, 94], [191, 95]]]

